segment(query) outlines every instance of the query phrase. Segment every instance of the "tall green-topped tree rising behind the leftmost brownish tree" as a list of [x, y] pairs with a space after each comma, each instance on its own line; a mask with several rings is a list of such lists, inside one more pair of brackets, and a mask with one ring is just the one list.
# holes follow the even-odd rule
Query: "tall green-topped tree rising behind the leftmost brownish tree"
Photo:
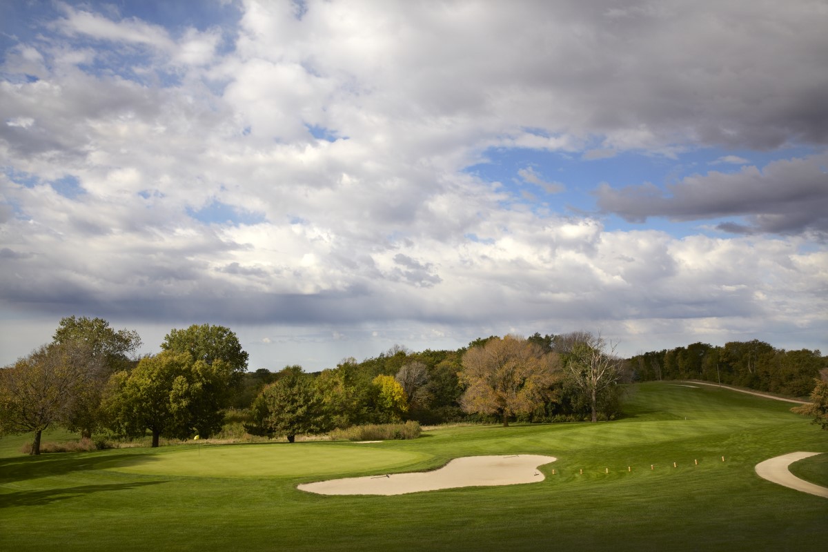
[[83, 385], [71, 397], [64, 425], [90, 438], [103, 425], [100, 404], [106, 382], [114, 372], [132, 366], [132, 355], [141, 347], [141, 337], [132, 330], [116, 332], [104, 319], [70, 316], [60, 319], [52, 342], [74, 344], [77, 350], [85, 352], [84, 358], [73, 363]]

